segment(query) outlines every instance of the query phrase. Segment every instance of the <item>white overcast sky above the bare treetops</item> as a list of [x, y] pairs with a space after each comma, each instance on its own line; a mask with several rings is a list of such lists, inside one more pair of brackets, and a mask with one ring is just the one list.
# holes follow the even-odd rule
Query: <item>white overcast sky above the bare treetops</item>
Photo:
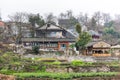
[[120, 14], [120, 0], [0, 0], [3, 20], [15, 12], [45, 13], [58, 15], [72, 10], [75, 15], [80, 12], [92, 14], [96, 11]]

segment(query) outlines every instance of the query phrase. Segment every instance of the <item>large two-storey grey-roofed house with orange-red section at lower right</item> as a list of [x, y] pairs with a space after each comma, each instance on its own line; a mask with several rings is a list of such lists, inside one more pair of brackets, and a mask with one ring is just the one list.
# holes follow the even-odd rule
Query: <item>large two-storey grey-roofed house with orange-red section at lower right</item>
[[66, 50], [71, 43], [75, 42], [75, 37], [66, 29], [54, 25], [45, 24], [35, 30], [35, 37], [24, 37], [22, 43], [25, 46], [40, 46], [40, 49]]

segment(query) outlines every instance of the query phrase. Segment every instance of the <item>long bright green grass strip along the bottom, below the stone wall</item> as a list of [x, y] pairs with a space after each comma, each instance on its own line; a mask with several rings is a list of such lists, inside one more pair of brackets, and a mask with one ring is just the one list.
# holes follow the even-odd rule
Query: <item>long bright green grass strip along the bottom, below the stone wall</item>
[[38, 73], [13, 73], [14, 76], [18, 78], [63, 78], [63, 79], [72, 79], [80, 77], [110, 77], [117, 75], [117, 72], [89, 72], [89, 73], [47, 73], [47, 72], [38, 72]]

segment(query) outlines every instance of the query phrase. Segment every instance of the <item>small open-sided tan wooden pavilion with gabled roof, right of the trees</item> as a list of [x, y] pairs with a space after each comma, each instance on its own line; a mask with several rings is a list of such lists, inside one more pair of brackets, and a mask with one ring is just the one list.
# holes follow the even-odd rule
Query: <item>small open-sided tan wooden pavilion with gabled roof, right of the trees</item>
[[90, 42], [86, 45], [86, 55], [111, 56], [111, 45], [104, 41]]

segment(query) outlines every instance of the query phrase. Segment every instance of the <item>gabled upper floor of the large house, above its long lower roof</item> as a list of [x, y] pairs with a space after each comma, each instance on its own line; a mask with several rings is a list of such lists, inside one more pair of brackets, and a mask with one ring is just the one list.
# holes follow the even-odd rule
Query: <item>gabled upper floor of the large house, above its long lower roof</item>
[[66, 29], [54, 25], [54, 24], [45, 24], [44, 26], [37, 28], [35, 30], [35, 37], [41, 38], [75, 38], [73, 34], [71, 34]]

